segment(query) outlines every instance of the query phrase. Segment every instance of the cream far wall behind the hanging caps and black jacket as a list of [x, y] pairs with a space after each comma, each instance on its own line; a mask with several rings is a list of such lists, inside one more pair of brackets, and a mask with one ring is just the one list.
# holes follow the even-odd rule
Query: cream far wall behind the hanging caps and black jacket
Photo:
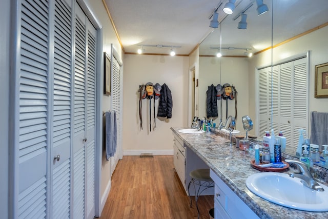
[[[186, 56], [125, 55], [123, 91], [123, 153], [173, 154], [171, 127], [187, 125], [188, 66]], [[139, 131], [139, 85], [167, 84], [172, 92], [172, 118], [156, 117], [156, 130], [149, 131], [149, 100], [142, 100], [143, 130]], [[158, 101], [156, 100], [156, 114]], [[152, 100], [153, 106], [153, 100]], [[153, 112], [153, 107], [152, 107]], [[152, 117], [153, 121], [153, 117]]]

